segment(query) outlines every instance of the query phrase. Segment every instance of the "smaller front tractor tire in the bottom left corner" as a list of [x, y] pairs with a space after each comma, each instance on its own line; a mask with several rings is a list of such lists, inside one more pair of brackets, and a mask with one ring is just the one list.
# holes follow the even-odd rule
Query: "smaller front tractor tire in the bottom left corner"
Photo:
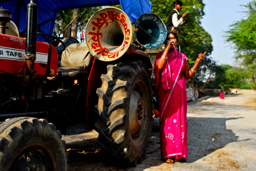
[[0, 123], [0, 170], [66, 171], [60, 131], [44, 119], [18, 117]]

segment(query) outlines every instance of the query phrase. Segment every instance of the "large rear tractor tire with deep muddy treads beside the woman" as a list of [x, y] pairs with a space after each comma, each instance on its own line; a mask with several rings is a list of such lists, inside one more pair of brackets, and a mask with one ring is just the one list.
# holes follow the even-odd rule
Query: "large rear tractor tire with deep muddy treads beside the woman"
[[98, 144], [124, 164], [136, 165], [145, 155], [151, 134], [151, 82], [141, 61], [107, 66], [97, 89], [95, 130]]

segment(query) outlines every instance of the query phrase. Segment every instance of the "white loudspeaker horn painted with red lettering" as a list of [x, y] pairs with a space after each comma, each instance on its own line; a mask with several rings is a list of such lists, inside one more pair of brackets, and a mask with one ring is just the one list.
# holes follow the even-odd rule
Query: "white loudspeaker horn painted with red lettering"
[[129, 48], [132, 24], [124, 11], [116, 7], [106, 7], [92, 15], [85, 33], [91, 54], [101, 61], [113, 61]]

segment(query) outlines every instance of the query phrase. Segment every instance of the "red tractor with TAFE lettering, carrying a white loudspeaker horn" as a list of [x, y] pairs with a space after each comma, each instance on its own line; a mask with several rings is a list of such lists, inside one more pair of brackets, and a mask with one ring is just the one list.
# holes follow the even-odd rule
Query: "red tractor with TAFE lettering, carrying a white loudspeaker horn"
[[[152, 65], [131, 44], [128, 16], [118, 8], [99, 10], [87, 23], [86, 43], [65, 49], [65, 42], [37, 33], [38, 7], [33, 0], [27, 5], [26, 38], [5, 33], [16, 26], [8, 25], [8, 9], [0, 9], [1, 170], [67, 170], [61, 132], [78, 123], [95, 129], [110, 154], [136, 164], [151, 133]], [[39, 42], [37, 35], [63, 48]]]

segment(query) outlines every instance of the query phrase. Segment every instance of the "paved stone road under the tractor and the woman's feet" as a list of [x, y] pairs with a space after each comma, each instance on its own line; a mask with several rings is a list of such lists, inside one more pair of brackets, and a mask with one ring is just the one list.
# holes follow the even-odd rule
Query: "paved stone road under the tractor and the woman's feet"
[[[104, 160], [88, 158], [78, 163], [69, 157], [70, 170], [256, 170], [256, 91], [241, 90], [225, 99], [211, 97], [188, 104], [188, 158], [186, 163], [161, 161], [159, 118], [154, 118], [146, 159], [135, 167], [118, 168]], [[91, 139], [86, 141], [85, 135]], [[75, 142], [63, 137], [67, 147], [91, 143], [97, 134], [84, 133]], [[70, 137], [75, 139], [75, 137]], [[93, 139], [94, 138], [94, 139]], [[96, 148], [96, 147], [95, 147]], [[77, 160], [77, 158], [76, 158]], [[85, 162], [86, 161], [86, 162]], [[79, 167], [78, 167], [79, 165]], [[89, 165], [89, 167], [87, 167]], [[101, 165], [101, 166], [98, 166]], [[80, 167], [81, 166], [81, 167]]]

